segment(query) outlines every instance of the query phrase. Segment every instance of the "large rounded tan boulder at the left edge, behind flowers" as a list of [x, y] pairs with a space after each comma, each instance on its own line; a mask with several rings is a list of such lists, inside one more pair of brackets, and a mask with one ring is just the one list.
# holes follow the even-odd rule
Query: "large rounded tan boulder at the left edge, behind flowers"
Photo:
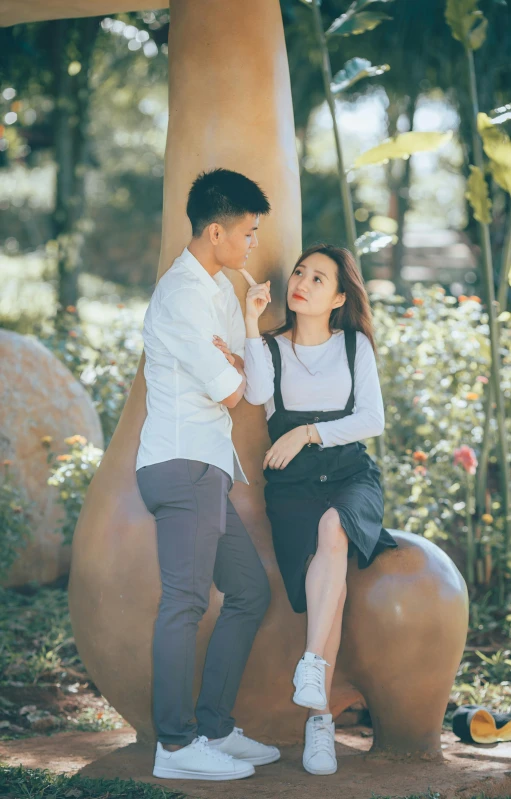
[[57, 532], [63, 509], [57, 490], [48, 485], [48, 449], [68, 451], [64, 439], [78, 433], [103, 447], [98, 414], [86, 390], [64, 364], [34, 338], [0, 330], [0, 462], [29, 502], [32, 540], [21, 549], [6, 586], [35, 580], [51, 583], [69, 571], [71, 547]]

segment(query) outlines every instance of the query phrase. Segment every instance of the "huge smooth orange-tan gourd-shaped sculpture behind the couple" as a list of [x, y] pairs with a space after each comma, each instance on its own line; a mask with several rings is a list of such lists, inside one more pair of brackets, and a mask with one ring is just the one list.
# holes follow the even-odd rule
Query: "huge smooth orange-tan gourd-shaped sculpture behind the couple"
[[[272, 280], [276, 321], [300, 251], [300, 187], [289, 71], [278, 0], [172, 0], [170, 112], [159, 274], [186, 245], [186, 195], [203, 169], [222, 166], [257, 180], [273, 208], [250, 261]], [[243, 279], [229, 274], [242, 299]], [[262, 408], [234, 411], [234, 442], [250, 486], [232, 500], [270, 577], [273, 601], [256, 639], [235, 708], [263, 740], [303, 736], [306, 711], [291, 702], [304, 647], [304, 616], [289, 607], [263, 502], [267, 433]], [[145, 417], [140, 366], [115, 435], [91, 483], [76, 529], [70, 582], [73, 629], [91, 677], [141, 739], [153, 736], [151, 641], [160, 593], [155, 526], [138, 493], [135, 457]], [[374, 747], [439, 752], [440, 729], [466, 634], [463, 580], [436, 546], [396, 533], [399, 549], [365, 571], [350, 562], [341, 655], [333, 690], [338, 713], [363, 697]], [[197, 674], [221, 597], [201, 622]], [[170, 675], [169, 675], [170, 677]]]

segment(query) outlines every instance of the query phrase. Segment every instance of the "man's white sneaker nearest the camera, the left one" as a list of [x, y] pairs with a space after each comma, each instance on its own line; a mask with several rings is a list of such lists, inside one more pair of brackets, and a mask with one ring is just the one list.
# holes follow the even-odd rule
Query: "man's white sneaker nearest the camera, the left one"
[[251, 763], [236, 760], [208, 746], [201, 735], [188, 746], [169, 752], [158, 741], [153, 777], [174, 780], [240, 780], [250, 777], [255, 769]]

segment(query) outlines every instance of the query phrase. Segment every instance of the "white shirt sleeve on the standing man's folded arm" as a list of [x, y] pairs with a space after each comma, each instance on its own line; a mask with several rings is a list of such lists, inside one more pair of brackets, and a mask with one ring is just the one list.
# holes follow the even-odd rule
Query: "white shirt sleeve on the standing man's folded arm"
[[200, 290], [179, 288], [161, 297], [152, 324], [161, 343], [214, 402], [239, 388], [242, 376], [213, 344], [217, 331]]

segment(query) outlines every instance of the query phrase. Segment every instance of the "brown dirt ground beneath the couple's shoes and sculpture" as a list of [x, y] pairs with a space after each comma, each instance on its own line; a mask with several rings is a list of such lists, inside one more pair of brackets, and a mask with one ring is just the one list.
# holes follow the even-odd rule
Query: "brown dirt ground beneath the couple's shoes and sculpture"
[[372, 799], [373, 795], [403, 797], [436, 791], [442, 799], [511, 797], [511, 743], [492, 747], [467, 746], [452, 733], [442, 735], [444, 762], [395, 762], [366, 757], [371, 746], [367, 727], [338, 729], [339, 770], [313, 777], [303, 770], [300, 746], [282, 749], [278, 763], [256, 769], [236, 782], [166, 781], [151, 776], [153, 750], [135, 742], [131, 728], [106, 732], [61, 732], [0, 742], [0, 761], [48, 768], [57, 773], [129, 779], [166, 785], [197, 799]]

